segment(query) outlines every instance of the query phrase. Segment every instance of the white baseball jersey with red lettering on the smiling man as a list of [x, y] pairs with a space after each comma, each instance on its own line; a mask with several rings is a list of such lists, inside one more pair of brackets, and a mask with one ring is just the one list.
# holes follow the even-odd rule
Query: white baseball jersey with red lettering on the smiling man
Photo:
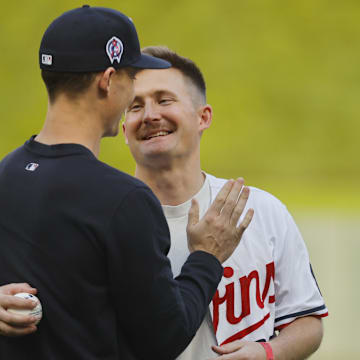
[[[202, 189], [195, 196], [200, 216], [225, 182], [206, 175]], [[169, 258], [175, 275], [188, 256], [185, 228], [190, 206], [191, 200], [175, 207], [163, 206], [170, 228]], [[253, 219], [232, 256], [223, 263], [224, 276], [210, 304], [213, 327], [200, 328], [189, 346], [194, 348], [192, 355], [181, 355], [181, 360], [208, 357], [211, 352], [196, 354], [193, 343], [202, 338], [201, 343], [208, 339], [211, 346], [209, 334], [213, 332], [220, 345], [240, 339], [268, 341], [275, 330], [298, 317], [328, 315], [305, 243], [286, 207], [269, 193], [251, 187], [242, 217], [248, 208], [255, 211]]]

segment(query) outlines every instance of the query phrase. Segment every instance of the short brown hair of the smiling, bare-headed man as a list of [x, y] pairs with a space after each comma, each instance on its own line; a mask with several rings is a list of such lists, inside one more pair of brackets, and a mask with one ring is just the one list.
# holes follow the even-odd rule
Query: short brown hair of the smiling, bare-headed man
[[179, 70], [189, 79], [201, 95], [201, 101], [206, 104], [206, 84], [198, 66], [190, 59], [176, 54], [166, 46], [148, 46], [141, 50], [144, 54], [151, 55], [168, 61], [171, 67]]

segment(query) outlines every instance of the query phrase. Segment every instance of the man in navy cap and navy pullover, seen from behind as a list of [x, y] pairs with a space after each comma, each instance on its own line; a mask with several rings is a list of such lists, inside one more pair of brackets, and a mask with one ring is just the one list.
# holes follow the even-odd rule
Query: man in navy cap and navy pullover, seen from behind
[[[239, 196], [242, 182], [229, 181], [201, 221], [194, 202], [191, 254], [174, 280], [158, 200], [97, 159], [101, 138], [118, 133], [133, 100], [136, 69], [169, 63], [140, 53], [127, 16], [89, 6], [50, 24], [39, 61], [49, 95], [44, 126], [0, 162], [0, 292], [31, 284], [43, 319], [29, 336], [0, 337], [0, 358], [173, 359], [251, 221], [249, 210], [236, 226], [248, 189]], [[17, 285], [27, 289], [34, 292]]]

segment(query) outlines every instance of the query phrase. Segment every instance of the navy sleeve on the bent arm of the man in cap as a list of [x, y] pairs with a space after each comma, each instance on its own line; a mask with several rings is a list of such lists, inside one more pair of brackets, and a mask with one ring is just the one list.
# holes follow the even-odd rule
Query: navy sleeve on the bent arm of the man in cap
[[221, 280], [218, 260], [190, 254], [174, 279], [170, 235], [150, 189], [132, 191], [109, 226], [110, 295], [118, 324], [136, 357], [176, 358], [190, 343]]

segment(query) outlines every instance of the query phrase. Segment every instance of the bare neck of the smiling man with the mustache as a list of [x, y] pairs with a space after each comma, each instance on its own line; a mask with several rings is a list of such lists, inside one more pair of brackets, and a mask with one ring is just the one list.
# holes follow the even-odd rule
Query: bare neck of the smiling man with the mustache
[[[187, 166], [186, 166], [187, 165]], [[198, 193], [205, 176], [198, 166], [151, 169], [137, 166], [135, 176], [147, 184], [162, 205], [180, 205]]]

